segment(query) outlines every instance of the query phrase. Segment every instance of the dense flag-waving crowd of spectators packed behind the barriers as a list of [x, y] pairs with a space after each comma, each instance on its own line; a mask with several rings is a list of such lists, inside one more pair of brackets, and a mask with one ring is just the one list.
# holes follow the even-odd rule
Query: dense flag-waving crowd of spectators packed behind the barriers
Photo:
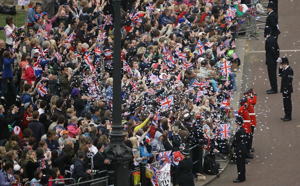
[[[240, 64], [234, 3], [122, 1], [120, 104], [131, 169], [161, 152], [187, 151], [200, 139], [211, 156], [226, 153], [219, 126], [236, 90], [230, 64]], [[117, 63], [113, 23], [119, 19], [113, 5], [30, 1], [24, 26], [6, 17], [5, 41], [0, 39], [0, 186], [39, 185], [43, 175], [77, 181], [90, 169], [109, 169], [104, 148]], [[191, 167], [179, 171], [189, 174]], [[177, 181], [192, 184], [190, 178]]]

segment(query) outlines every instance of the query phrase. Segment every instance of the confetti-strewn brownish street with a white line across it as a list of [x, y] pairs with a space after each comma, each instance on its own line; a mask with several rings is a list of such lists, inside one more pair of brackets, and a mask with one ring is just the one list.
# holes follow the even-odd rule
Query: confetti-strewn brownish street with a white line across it
[[[265, 2], [265, 1], [262, 1]], [[300, 1], [279, 1], [279, 30], [278, 38], [280, 57], [286, 56], [294, 71], [292, 93], [292, 121], [282, 122], [284, 116], [282, 94], [280, 91], [281, 78], [277, 76], [278, 93], [267, 94], [270, 83], [265, 65], [263, 35], [259, 40], [247, 40], [242, 78], [242, 92], [253, 88], [257, 93], [255, 106], [258, 125], [254, 132], [252, 147], [255, 148], [254, 159], [246, 164], [246, 181], [233, 183], [237, 178], [236, 165], [229, 164], [220, 178], [210, 185], [300, 185], [300, 38], [298, 13]], [[264, 26], [262, 26], [264, 27]], [[262, 31], [261, 29], [258, 32]], [[279, 64], [277, 67], [279, 68]], [[278, 69], [277, 69], [278, 74]], [[242, 95], [241, 95], [242, 96]]]

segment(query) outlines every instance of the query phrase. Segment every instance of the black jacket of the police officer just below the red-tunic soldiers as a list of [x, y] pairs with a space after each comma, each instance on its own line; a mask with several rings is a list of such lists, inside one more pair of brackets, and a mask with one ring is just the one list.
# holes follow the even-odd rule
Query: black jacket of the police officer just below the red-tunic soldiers
[[231, 144], [231, 148], [234, 149], [234, 153], [236, 154], [247, 153], [246, 131], [242, 126], [237, 129]]

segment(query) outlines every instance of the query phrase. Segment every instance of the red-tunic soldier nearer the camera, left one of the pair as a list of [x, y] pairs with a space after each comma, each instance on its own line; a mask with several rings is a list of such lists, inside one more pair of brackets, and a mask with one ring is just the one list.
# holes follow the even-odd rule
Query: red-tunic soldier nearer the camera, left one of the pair
[[248, 113], [248, 106], [249, 106], [249, 103], [248, 102], [248, 99], [247, 98], [244, 98], [244, 99], [241, 99], [239, 101], [239, 103], [241, 104], [241, 108], [238, 110], [238, 114], [239, 116], [241, 116], [243, 118], [243, 124], [242, 124], [242, 127], [245, 129], [246, 131], [246, 137], [247, 137], [247, 154], [246, 154], [246, 158], [250, 158], [250, 159], [253, 159], [254, 156], [253, 154], [250, 154], [250, 151], [249, 151], [249, 138], [250, 138], [250, 134], [251, 134], [251, 128], [250, 128], [250, 116], [249, 116], [249, 113]]

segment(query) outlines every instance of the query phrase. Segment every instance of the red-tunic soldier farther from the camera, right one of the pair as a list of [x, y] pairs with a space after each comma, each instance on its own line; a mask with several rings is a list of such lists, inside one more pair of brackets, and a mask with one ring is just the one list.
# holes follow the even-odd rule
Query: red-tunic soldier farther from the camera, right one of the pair
[[256, 104], [257, 94], [251, 88], [250, 90], [244, 93], [244, 96], [248, 98], [247, 110], [250, 116], [250, 128], [251, 128], [251, 134], [250, 134], [248, 145], [249, 145], [250, 152], [254, 152], [254, 148], [252, 148], [252, 141], [253, 141], [254, 128], [255, 126], [257, 126], [257, 121], [256, 121], [256, 116], [254, 111], [254, 105]]

